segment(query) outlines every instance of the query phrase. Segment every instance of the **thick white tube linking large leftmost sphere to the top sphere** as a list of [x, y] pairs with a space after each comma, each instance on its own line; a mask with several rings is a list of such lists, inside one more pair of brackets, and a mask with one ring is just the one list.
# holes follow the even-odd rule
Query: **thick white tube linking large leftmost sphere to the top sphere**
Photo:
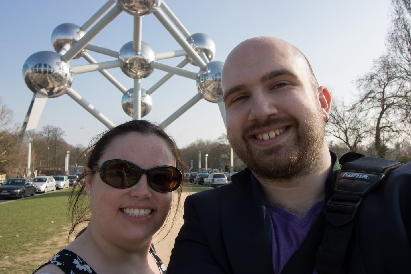
[[101, 20], [94, 25], [79, 41], [72, 46], [72, 48], [67, 51], [65, 55], [62, 56], [62, 59], [69, 62], [76, 56], [83, 48], [99, 34], [111, 21], [114, 20], [121, 13], [121, 8], [118, 5], [115, 5], [111, 11], [104, 15]]

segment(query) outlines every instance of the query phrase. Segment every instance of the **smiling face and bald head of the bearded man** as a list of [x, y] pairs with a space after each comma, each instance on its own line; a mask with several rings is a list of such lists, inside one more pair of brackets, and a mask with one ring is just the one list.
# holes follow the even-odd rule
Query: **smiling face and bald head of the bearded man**
[[256, 175], [290, 179], [315, 167], [325, 140], [322, 93], [313, 78], [302, 53], [272, 37], [246, 40], [227, 58], [227, 136]]

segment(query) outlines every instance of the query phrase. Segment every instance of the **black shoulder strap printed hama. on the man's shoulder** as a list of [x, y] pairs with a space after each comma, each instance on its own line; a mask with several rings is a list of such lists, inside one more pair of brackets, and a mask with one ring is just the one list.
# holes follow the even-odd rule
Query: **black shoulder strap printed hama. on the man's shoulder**
[[340, 163], [344, 165], [337, 175], [331, 198], [324, 207], [326, 229], [316, 253], [316, 270], [322, 274], [344, 273], [344, 257], [358, 206], [388, 173], [403, 165], [358, 153], [345, 154]]

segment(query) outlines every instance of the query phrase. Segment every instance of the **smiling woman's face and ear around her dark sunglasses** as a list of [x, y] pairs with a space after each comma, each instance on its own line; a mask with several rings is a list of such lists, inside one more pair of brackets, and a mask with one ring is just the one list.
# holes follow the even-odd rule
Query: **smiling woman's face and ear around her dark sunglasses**
[[[175, 158], [162, 138], [155, 135], [129, 133], [107, 145], [98, 165], [111, 159], [130, 161], [140, 168], [175, 166]], [[86, 179], [91, 191], [92, 218], [89, 228], [110, 242], [148, 242], [161, 228], [169, 213], [172, 192], [161, 193], [148, 185], [147, 175], [126, 189], [104, 183], [98, 173]], [[88, 228], [88, 229], [89, 229]]]

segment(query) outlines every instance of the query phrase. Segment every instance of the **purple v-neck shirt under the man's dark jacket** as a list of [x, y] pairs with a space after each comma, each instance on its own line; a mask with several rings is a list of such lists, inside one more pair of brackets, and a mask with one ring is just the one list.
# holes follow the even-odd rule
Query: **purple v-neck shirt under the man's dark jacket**
[[[274, 273], [281, 273], [286, 262], [300, 248], [302, 242], [324, 206], [324, 201], [315, 203], [300, 219], [296, 215], [287, 212], [275, 205], [267, 203], [268, 214], [271, 223], [271, 254]], [[314, 269], [314, 274], [317, 274]]]

